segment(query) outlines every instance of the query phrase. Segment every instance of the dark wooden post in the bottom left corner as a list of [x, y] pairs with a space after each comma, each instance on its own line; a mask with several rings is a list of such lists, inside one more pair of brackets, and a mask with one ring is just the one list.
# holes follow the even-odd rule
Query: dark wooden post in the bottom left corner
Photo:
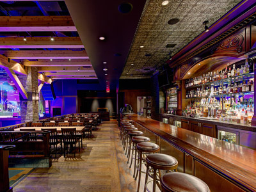
[[9, 151], [0, 148], [0, 192], [12, 192], [9, 184], [8, 156]]

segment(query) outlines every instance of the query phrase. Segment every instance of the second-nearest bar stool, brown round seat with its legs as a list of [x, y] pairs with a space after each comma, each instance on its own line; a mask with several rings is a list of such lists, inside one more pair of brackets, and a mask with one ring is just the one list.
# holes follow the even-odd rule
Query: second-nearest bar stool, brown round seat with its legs
[[[161, 178], [161, 171], [160, 170], [174, 170], [177, 172], [178, 168], [178, 161], [175, 159], [175, 157], [168, 156], [166, 154], [149, 154], [146, 157], [146, 163], [147, 163], [147, 171], [146, 171], [146, 178], [145, 178], [145, 186], [144, 186], [144, 192], [149, 191], [147, 188], [147, 185], [149, 182], [153, 181], [153, 192], [156, 191], [156, 182], [157, 180], [160, 180]], [[151, 168], [149, 168], [151, 167]], [[150, 175], [150, 171], [153, 170], [153, 177]], [[157, 179], [157, 170], [159, 173], [159, 179]], [[153, 180], [148, 181], [148, 176], [153, 178]], [[158, 183], [157, 183], [158, 184]], [[159, 186], [161, 188], [161, 186]]]

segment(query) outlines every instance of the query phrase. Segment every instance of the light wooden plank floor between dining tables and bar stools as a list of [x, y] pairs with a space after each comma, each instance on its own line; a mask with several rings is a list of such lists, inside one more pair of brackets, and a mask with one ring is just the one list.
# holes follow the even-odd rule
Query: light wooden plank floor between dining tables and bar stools
[[[95, 138], [83, 140], [76, 158], [69, 154], [51, 168], [36, 168], [13, 191], [136, 191], [133, 168], [129, 169], [118, 134], [116, 120], [103, 122], [93, 132]], [[143, 184], [144, 179], [140, 191]]]

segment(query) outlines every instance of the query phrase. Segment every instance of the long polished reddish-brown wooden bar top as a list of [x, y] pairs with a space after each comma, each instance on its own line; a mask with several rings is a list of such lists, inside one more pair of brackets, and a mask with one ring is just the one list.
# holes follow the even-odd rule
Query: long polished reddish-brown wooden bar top
[[256, 150], [143, 116], [127, 116], [163, 140], [204, 162], [215, 172], [229, 177], [247, 190], [256, 191]]

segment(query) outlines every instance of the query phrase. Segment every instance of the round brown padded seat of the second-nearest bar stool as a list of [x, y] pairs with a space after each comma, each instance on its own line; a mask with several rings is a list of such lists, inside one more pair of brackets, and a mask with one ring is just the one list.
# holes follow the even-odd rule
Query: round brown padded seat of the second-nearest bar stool
[[159, 170], [175, 170], [178, 167], [177, 159], [166, 154], [149, 154], [146, 161], [148, 165]]

